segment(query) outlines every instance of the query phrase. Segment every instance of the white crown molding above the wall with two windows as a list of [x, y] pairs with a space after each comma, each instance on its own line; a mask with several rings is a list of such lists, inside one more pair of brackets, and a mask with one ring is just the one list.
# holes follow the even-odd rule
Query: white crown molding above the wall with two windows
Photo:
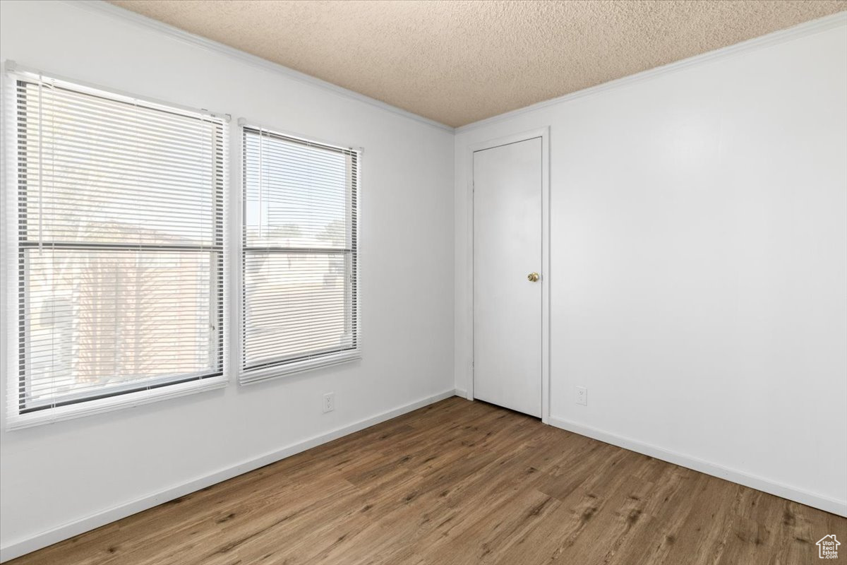
[[148, 18], [147, 16], [136, 14], [135, 12], [130, 12], [130, 10], [127, 10], [125, 8], [119, 8], [117, 6], [114, 6], [113, 4], [105, 2], [105, 0], [62, 1], [71, 6], [75, 6], [76, 8], [83, 8], [90, 12], [94, 12], [97, 14], [105, 14], [114, 18], [125, 19], [126, 21], [129, 21], [135, 25], [146, 27], [149, 30], [158, 31], [159, 33], [163, 33], [164, 35], [171, 37], [172, 39], [187, 43], [192, 47], [201, 47], [202, 49], [206, 49], [207, 51], [211, 51], [213, 53], [220, 53], [226, 55], [227, 57], [235, 58], [241, 61], [242, 63], [250, 64], [260, 69], [265, 69], [274, 73], [278, 73], [280, 75], [285, 76], [285, 78], [296, 80], [297, 82], [301, 82], [308, 86], [315, 86], [317, 88], [321, 88], [325, 91], [332, 92], [339, 96], [350, 98], [352, 100], [356, 100], [357, 102], [363, 102], [365, 104], [368, 104], [369, 106], [374, 106], [375, 108], [385, 110], [392, 114], [397, 114], [404, 118], [413, 119], [414, 121], [420, 124], [429, 125], [438, 130], [449, 131], [451, 133], [453, 132], [453, 128], [451, 128], [451, 126], [436, 122], [434, 119], [424, 118], [424, 116], [420, 116], [418, 114], [412, 114], [412, 112], [408, 112], [407, 110], [404, 110], [402, 108], [397, 108], [396, 106], [392, 106], [386, 102], [381, 102], [379, 100], [376, 100], [375, 98], [365, 96], [364, 94], [348, 90], [343, 86], [334, 85], [331, 82], [327, 82], [326, 80], [320, 80], [316, 77], [313, 77], [312, 75], [307, 75], [305, 73], [301, 73], [300, 71], [289, 69], [288, 67], [285, 67], [281, 64], [272, 63], [271, 61], [268, 61], [268, 59], [257, 57], [256, 55], [251, 55], [250, 53], [235, 49], [235, 47], [229, 47], [228, 45], [224, 45], [223, 43], [214, 42], [211, 39], [196, 36], [193, 33], [189, 33], [188, 31], [180, 30], [179, 28], [176, 28], [173, 25], [164, 24], [163, 22], [160, 22], [157, 19]]

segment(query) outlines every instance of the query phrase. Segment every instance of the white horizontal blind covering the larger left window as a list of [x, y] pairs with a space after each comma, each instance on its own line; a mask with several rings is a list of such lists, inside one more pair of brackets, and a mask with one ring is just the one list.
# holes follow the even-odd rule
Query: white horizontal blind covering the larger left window
[[9, 414], [220, 377], [224, 120], [26, 74], [14, 106]]

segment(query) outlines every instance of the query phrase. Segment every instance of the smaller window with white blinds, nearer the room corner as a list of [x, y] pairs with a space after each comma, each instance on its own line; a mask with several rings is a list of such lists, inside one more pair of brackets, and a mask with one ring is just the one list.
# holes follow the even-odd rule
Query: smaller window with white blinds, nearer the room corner
[[241, 382], [357, 358], [359, 153], [242, 131]]

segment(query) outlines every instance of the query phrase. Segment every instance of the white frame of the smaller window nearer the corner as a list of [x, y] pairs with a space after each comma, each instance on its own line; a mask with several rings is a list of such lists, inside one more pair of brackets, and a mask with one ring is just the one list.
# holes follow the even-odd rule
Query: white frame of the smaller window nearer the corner
[[[234, 335], [237, 332], [237, 338], [234, 340], [234, 352], [235, 355], [235, 374], [237, 375], [237, 380], [239, 385], [252, 385], [255, 383], [264, 382], [266, 380], [278, 379], [280, 377], [290, 376], [293, 374], [300, 374], [307, 371], [312, 371], [318, 368], [325, 368], [332, 365], [337, 365], [340, 363], [350, 363], [353, 361], [358, 361], [362, 358], [362, 280], [361, 280], [361, 265], [362, 265], [362, 254], [361, 254], [361, 234], [360, 234], [360, 226], [361, 226], [361, 202], [362, 202], [362, 156], [364, 149], [363, 147], [353, 147], [353, 146], [341, 146], [337, 143], [331, 143], [328, 141], [320, 141], [310, 136], [302, 136], [301, 134], [287, 132], [285, 130], [272, 129], [265, 126], [255, 125], [254, 122], [248, 121], [245, 118], [241, 118], [238, 120], [239, 127], [237, 128], [237, 137], [238, 137], [238, 157], [240, 159], [238, 166], [238, 179], [237, 179], [237, 202], [235, 202], [234, 208], [235, 215], [237, 215], [239, 225], [237, 227], [237, 241], [234, 241], [234, 250], [232, 255], [235, 258], [234, 263], [238, 265], [237, 269], [232, 269], [234, 271], [233, 277], [233, 288], [237, 289], [238, 296], [235, 300], [236, 302], [236, 315], [235, 320], [237, 324], [237, 329], [234, 330]], [[277, 136], [283, 138], [285, 140], [291, 140], [294, 142], [302, 143], [303, 145], [312, 145], [316, 147], [322, 147], [325, 149], [329, 149], [331, 151], [336, 152], [348, 152], [353, 155], [353, 160], [355, 162], [355, 180], [352, 182], [351, 192], [348, 195], [349, 206], [346, 208], [346, 213], [352, 216], [351, 228], [350, 228], [350, 236], [352, 241], [351, 246], [351, 257], [352, 257], [352, 269], [350, 279], [345, 280], [345, 285], [352, 285], [351, 291], [351, 330], [353, 334], [353, 346], [349, 349], [338, 351], [338, 352], [327, 352], [320, 353], [318, 355], [304, 355], [302, 358], [290, 358], [284, 359], [277, 362], [269, 362], [263, 363], [265, 366], [256, 366], [254, 368], [245, 368], [243, 365], [244, 359], [244, 335], [245, 335], [245, 315], [244, 315], [244, 307], [245, 307], [245, 287], [244, 287], [244, 272], [245, 272], [245, 260], [246, 260], [246, 247], [244, 246], [244, 236], [246, 230], [246, 219], [245, 219], [245, 202], [246, 202], [246, 178], [245, 178], [245, 169], [246, 169], [246, 147], [245, 147], [245, 138], [246, 131], [263, 132], [267, 133], [271, 136]], [[236, 190], [234, 188], [233, 193]], [[233, 237], [233, 240], [236, 238]], [[264, 251], [264, 250], [261, 250]], [[338, 253], [335, 249], [328, 249], [326, 251], [329, 253]]]

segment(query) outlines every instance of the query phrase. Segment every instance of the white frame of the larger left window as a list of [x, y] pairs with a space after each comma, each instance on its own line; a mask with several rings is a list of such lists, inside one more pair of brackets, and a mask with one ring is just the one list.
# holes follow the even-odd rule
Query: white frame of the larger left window
[[[116, 242], [91, 243], [85, 241], [42, 241], [44, 246], [57, 249], [84, 249], [86, 251], [190, 251], [208, 252], [208, 261], [213, 266], [210, 274], [209, 307], [211, 319], [215, 320], [215, 335], [213, 349], [209, 352], [211, 371], [196, 374], [174, 374], [152, 377], [144, 381], [135, 381], [113, 385], [100, 391], [77, 391], [67, 395], [57, 396], [47, 402], [28, 400], [27, 386], [30, 375], [26, 369], [26, 322], [25, 315], [25, 253], [27, 249], [37, 248], [37, 241], [27, 241], [23, 222], [5, 221], [18, 218], [20, 207], [25, 205], [25, 180], [21, 180], [25, 164], [19, 163], [19, 120], [25, 119], [25, 112], [20, 112], [18, 90], [21, 82], [42, 82], [54, 88], [64, 88], [69, 91], [102, 97], [111, 102], [133, 103], [138, 106], [162, 112], [170, 112], [191, 118], [213, 121], [220, 128], [221, 149], [217, 152], [216, 169], [219, 169], [219, 179], [213, 180], [213, 234], [211, 245], [179, 245], [163, 246], [155, 244], [125, 244]], [[229, 214], [227, 205], [230, 197], [229, 186], [229, 114], [217, 114], [207, 110], [180, 106], [171, 102], [162, 102], [152, 98], [137, 97], [123, 91], [107, 87], [87, 84], [78, 80], [70, 80], [58, 75], [45, 75], [35, 69], [19, 67], [12, 61], [7, 61], [3, 69], [3, 158], [6, 163], [3, 175], [3, 195], [0, 202], [3, 209], [0, 216], [4, 219], [3, 230], [0, 230], [0, 247], [6, 258], [3, 259], [3, 326], [7, 339], [3, 339], [3, 408], [6, 418], [3, 418], [5, 429], [27, 428], [38, 424], [51, 423], [58, 420], [79, 418], [92, 413], [102, 413], [123, 407], [138, 406], [149, 402], [158, 402], [177, 396], [185, 396], [202, 391], [218, 389], [229, 384], [229, 341], [230, 312], [228, 309], [229, 259], [228, 259], [228, 225]], [[22, 310], [23, 309], [23, 310]], [[17, 322], [15, 321], [17, 320]]]

